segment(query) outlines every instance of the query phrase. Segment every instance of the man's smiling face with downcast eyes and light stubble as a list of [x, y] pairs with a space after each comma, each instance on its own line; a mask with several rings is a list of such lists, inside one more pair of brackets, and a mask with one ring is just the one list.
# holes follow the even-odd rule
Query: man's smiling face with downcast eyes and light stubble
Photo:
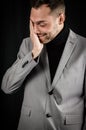
[[54, 39], [59, 33], [59, 18], [51, 13], [46, 5], [39, 8], [32, 8], [30, 14], [34, 33], [37, 34], [41, 43], [45, 44]]

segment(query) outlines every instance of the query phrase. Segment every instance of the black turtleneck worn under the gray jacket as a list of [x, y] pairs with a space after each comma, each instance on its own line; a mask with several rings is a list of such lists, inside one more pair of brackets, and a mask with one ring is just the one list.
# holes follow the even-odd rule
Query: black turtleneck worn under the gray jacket
[[51, 82], [53, 81], [53, 77], [58, 67], [66, 40], [68, 38], [68, 34], [69, 29], [65, 25], [62, 31], [52, 41], [46, 44], [50, 66]]

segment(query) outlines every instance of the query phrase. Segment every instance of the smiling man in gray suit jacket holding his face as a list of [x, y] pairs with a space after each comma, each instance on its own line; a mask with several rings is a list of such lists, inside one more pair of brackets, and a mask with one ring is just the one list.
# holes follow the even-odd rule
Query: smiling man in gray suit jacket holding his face
[[2, 90], [24, 87], [18, 130], [86, 130], [86, 38], [65, 25], [63, 0], [33, 0], [30, 38]]

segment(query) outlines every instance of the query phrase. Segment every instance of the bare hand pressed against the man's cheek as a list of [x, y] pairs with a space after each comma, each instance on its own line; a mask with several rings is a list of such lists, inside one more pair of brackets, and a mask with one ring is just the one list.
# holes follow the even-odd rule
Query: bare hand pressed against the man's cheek
[[34, 33], [34, 28], [33, 28], [33, 24], [31, 22], [31, 20], [30, 20], [30, 38], [31, 38], [31, 41], [33, 44], [32, 56], [35, 59], [41, 53], [41, 51], [43, 49], [43, 44], [40, 43], [40, 40], [39, 40], [37, 34]]

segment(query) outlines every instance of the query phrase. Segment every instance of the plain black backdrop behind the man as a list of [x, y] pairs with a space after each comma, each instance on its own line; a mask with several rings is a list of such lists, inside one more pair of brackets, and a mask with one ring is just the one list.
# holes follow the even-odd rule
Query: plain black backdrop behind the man
[[[65, 0], [66, 22], [76, 33], [86, 37], [85, 3], [78, 0]], [[29, 36], [29, 0], [3, 0], [1, 4], [1, 42], [0, 42], [0, 83], [8, 67], [16, 59], [23, 38]], [[23, 90], [13, 95], [1, 95], [2, 130], [16, 130], [23, 99]]]

